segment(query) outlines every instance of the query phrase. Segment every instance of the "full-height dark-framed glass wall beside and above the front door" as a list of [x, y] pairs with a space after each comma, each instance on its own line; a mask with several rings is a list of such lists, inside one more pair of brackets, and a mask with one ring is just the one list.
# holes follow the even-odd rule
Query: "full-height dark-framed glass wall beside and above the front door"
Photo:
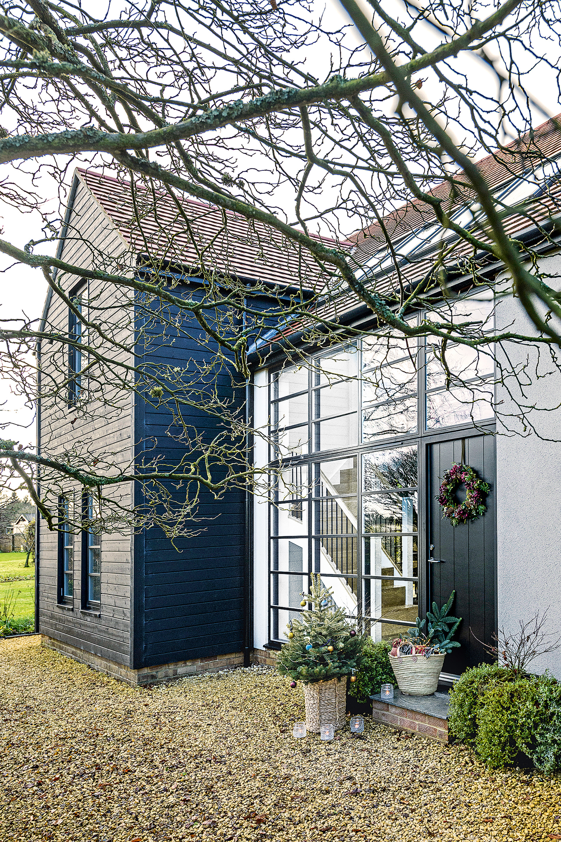
[[[458, 318], [491, 310], [457, 302]], [[414, 624], [419, 448], [435, 426], [492, 417], [490, 359], [452, 347], [443, 375], [438, 343], [372, 336], [270, 373], [271, 642], [286, 639], [313, 572], [376, 640]], [[475, 395], [471, 415], [446, 376]]]

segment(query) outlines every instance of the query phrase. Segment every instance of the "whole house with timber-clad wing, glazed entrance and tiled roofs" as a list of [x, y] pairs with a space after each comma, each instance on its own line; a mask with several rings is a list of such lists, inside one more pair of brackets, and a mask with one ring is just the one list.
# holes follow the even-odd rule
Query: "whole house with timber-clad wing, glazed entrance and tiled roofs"
[[[479, 166], [505, 201], [541, 197], [542, 216], [513, 216], [510, 232], [532, 243], [543, 270], [558, 278], [558, 232], [551, 219], [544, 221], [548, 213], [556, 216], [558, 168], [555, 163], [535, 167], [528, 176], [531, 142], [541, 144], [553, 160], [561, 157], [558, 124], [550, 122], [532, 140], [513, 144], [508, 164], [488, 157]], [[220, 210], [185, 202], [178, 211], [161, 197], [157, 212], [148, 203], [135, 228], [130, 208], [126, 182], [78, 170], [59, 256], [85, 270], [103, 252], [104, 266], [113, 262], [142, 273], [154, 271], [156, 255], [158, 271], [192, 288], [200, 253], [185, 231], [195, 229], [206, 243], [205, 259], [222, 278], [247, 282], [248, 296], [263, 312], [301, 266], [302, 255], [276, 232], [236, 216], [229, 225], [237, 228], [238, 245], [229, 242]], [[388, 215], [385, 225], [405, 278], [425, 277], [441, 244], [436, 226], [414, 202]], [[357, 271], [391, 289], [380, 226], [360, 232], [349, 248]], [[438, 308], [446, 306], [456, 317], [481, 320], [490, 332], [506, 326], [530, 331], [519, 301], [502, 294], [509, 284], [504, 267], [479, 260], [474, 284], [468, 256], [468, 247], [459, 245], [446, 299], [433, 285], [426, 308], [438, 317]], [[313, 296], [322, 279], [312, 262], [308, 272], [307, 292]], [[82, 285], [84, 302], [110, 295], [91, 280], [87, 289], [76, 277], [61, 283], [69, 296]], [[412, 312], [411, 318], [423, 315]], [[44, 318], [76, 329], [72, 313], [69, 321], [67, 307], [55, 296], [47, 299]], [[446, 388], [430, 340], [415, 340], [412, 347], [385, 338], [371, 311], [352, 298], [338, 318], [349, 341], [335, 349], [307, 349], [295, 326], [290, 342], [292, 349], [300, 343], [296, 362], [283, 348], [286, 330], [261, 325], [253, 338], [248, 382], [221, 381], [232, 411], [243, 413], [254, 429], [270, 426], [273, 444], [256, 435], [252, 456], [263, 468], [282, 456], [286, 482], [273, 482], [272, 502], [243, 488], [232, 488], [218, 503], [203, 493], [200, 511], [211, 520], [199, 534], [174, 542], [179, 553], [155, 527], [136, 534], [126, 529], [101, 536], [88, 530], [57, 534], [38, 519], [37, 625], [45, 645], [131, 683], [252, 660], [270, 663], [313, 571], [333, 587], [338, 605], [350, 616], [361, 615], [375, 639], [391, 639], [431, 601], [441, 604], [456, 591], [462, 646], [446, 657], [443, 681], [480, 663], [484, 643], [498, 627], [512, 629], [534, 612], [548, 609], [548, 628], [561, 633], [556, 590], [561, 561], [553, 541], [553, 505], [547, 503], [561, 473], [561, 382], [554, 360], [539, 362], [545, 366], [539, 378], [505, 381], [489, 355], [457, 349], [454, 365], [463, 372], [462, 392]], [[115, 335], [133, 329], [130, 320], [121, 324], [122, 311], [115, 319]], [[142, 359], [184, 363], [202, 353], [196, 331], [172, 336], [168, 325], [158, 325], [136, 352]], [[507, 353], [510, 370], [527, 372], [538, 365], [536, 349], [526, 345], [499, 347], [497, 365]], [[43, 347], [41, 372], [49, 365], [49, 350]], [[70, 360], [71, 370], [72, 365]], [[467, 400], [466, 389], [473, 400]], [[40, 448], [54, 441], [70, 447], [80, 436], [92, 446], [110, 442], [120, 453], [115, 459], [137, 465], [145, 458], [147, 440], [152, 455], [162, 454], [164, 460], [180, 450], [179, 440], [168, 435], [173, 419], [158, 417], [158, 409], [134, 392], [115, 393], [104, 424], [78, 422], [72, 401], [64, 412], [60, 405], [52, 397], [41, 400]], [[535, 408], [532, 434], [521, 418], [522, 405], [528, 412]], [[209, 423], [195, 408], [190, 421], [194, 429]], [[490, 490], [482, 517], [452, 526], [442, 518], [436, 496], [443, 473], [460, 461], [472, 466]], [[146, 503], [138, 483], [123, 485], [119, 494], [121, 504]], [[72, 507], [88, 512], [93, 505], [79, 489], [60, 495], [63, 514]], [[561, 655], [550, 653], [536, 663], [537, 669], [546, 667], [561, 677]]]

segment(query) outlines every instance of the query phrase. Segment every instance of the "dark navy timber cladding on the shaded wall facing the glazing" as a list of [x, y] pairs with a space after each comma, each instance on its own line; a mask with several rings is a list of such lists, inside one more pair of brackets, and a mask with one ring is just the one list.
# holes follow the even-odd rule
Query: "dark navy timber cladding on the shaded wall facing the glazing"
[[[186, 291], [196, 295], [192, 285]], [[168, 314], [176, 316], [173, 308]], [[161, 332], [158, 322], [150, 325], [137, 362], [174, 365], [175, 361], [195, 377], [195, 365], [205, 365], [216, 351], [195, 319], [183, 319], [180, 332], [169, 327], [158, 335]], [[231, 401], [243, 417], [245, 384], [232, 371], [209, 375], [208, 387], [216, 388], [218, 397]], [[182, 415], [184, 423], [207, 442], [225, 429], [220, 418], [196, 406], [184, 407]], [[173, 465], [184, 455], [188, 443], [168, 434], [172, 417], [167, 411], [136, 397], [135, 421], [137, 462], [143, 455], [149, 458], [154, 450], [147, 453], [147, 448], [153, 443], [164, 463]], [[171, 430], [179, 434], [179, 429]], [[178, 500], [182, 490], [174, 493]], [[138, 622], [135, 625], [137, 667], [243, 649], [243, 488], [232, 488], [219, 499], [203, 490], [196, 517], [208, 520], [193, 523], [200, 534], [176, 539], [177, 550], [159, 528], [147, 530], [136, 542], [135, 575], [142, 593], [136, 594], [135, 610], [143, 616], [142, 628]]]

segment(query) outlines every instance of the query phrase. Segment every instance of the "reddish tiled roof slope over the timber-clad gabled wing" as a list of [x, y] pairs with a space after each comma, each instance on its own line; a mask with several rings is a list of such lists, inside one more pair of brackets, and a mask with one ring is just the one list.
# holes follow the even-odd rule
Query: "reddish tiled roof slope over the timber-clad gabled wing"
[[323, 284], [312, 254], [263, 222], [185, 196], [178, 207], [168, 193], [152, 193], [144, 182], [133, 190], [126, 179], [77, 173], [136, 254], [274, 285]]

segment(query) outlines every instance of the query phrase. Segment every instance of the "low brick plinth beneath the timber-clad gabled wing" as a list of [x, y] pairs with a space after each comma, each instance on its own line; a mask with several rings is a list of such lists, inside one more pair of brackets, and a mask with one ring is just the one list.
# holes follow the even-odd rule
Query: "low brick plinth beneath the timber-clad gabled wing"
[[61, 642], [54, 637], [47, 637], [47, 635], [41, 635], [41, 645], [56, 649], [56, 652], [74, 658], [80, 663], [86, 663], [88, 667], [97, 669], [100, 673], [135, 686], [162, 684], [164, 681], [182, 679], [188, 675], [216, 673], [220, 669], [243, 666], [243, 653], [232, 652], [226, 655], [213, 655], [211, 658], [193, 658], [190, 661], [162, 663], [156, 667], [130, 669], [125, 664], [116, 663], [101, 655], [85, 652], [70, 643]]

